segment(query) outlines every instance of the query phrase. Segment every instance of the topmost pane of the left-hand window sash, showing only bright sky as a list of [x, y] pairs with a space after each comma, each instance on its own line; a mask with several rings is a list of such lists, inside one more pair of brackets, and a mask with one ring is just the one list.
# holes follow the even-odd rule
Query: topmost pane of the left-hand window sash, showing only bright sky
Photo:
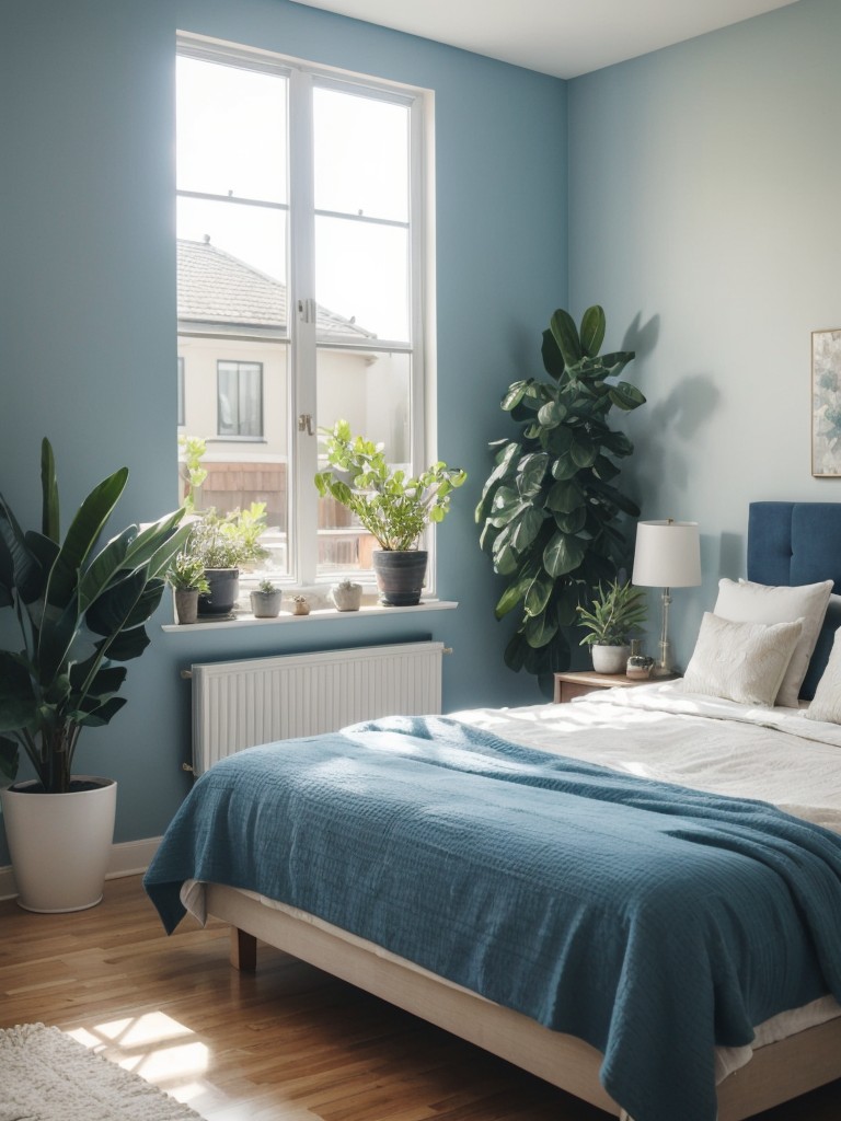
[[179, 191], [286, 202], [287, 80], [177, 61]]

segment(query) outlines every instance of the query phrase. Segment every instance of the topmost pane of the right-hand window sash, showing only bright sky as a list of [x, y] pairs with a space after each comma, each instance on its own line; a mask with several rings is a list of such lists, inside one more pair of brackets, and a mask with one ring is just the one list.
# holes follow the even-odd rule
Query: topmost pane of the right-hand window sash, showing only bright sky
[[409, 111], [316, 87], [315, 209], [407, 222]]

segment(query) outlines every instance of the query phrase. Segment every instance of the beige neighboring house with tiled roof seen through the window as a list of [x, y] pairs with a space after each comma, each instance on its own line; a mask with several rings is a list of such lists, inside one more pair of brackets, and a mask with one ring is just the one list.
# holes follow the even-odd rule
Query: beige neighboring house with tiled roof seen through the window
[[[231, 510], [266, 502], [272, 536], [281, 541], [292, 428], [287, 305], [285, 284], [213, 245], [210, 238], [178, 241], [178, 433], [206, 442], [201, 507]], [[386, 377], [397, 391], [383, 395], [391, 359], [358, 346], [375, 335], [322, 306], [316, 330], [320, 339], [357, 348], [320, 348], [314, 423], [326, 426], [345, 418], [354, 432], [405, 447], [401, 378]], [[348, 526], [344, 508], [323, 502], [320, 526], [325, 541], [332, 539], [324, 563], [359, 564], [358, 535], [330, 534]]]

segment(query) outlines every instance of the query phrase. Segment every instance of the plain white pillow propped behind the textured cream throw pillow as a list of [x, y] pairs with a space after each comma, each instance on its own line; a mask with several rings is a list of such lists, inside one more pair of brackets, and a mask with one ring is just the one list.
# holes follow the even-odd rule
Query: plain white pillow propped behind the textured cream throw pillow
[[775, 587], [769, 584], [754, 584], [747, 580], [734, 583], [719, 581], [719, 597], [713, 611], [722, 619], [739, 623], [789, 623], [803, 620], [803, 633], [792, 655], [788, 669], [777, 694], [776, 703], [787, 708], [797, 707], [803, 678], [808, 669], [808, 659], [821, 632], [826, 604], [830, 602], [832, 581], [819, 584], [798, 584], [795, 587]]

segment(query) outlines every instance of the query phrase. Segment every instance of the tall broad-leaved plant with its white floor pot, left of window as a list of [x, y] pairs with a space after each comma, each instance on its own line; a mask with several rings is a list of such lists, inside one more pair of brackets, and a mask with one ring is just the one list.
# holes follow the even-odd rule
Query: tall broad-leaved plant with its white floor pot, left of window
[[[121, 467], [84, 499], [59, 530], [49, 441], [41, 445], [40, 531], [24, 531], [0, 495], [0, 608], [12, 609], [21, 649], [0, 650], [0, 790], [18, 902], [38, 911], [81, 910], [102, 898], [113, 839], [117, 784], [76, 775], [78, 738], [126, 704], [126, 667], [149, 645], [187, 530], [183, 510], [129, 526], [94, 548], [128, 480]], [[36, 778], [16, 782], [25, 757]]]

